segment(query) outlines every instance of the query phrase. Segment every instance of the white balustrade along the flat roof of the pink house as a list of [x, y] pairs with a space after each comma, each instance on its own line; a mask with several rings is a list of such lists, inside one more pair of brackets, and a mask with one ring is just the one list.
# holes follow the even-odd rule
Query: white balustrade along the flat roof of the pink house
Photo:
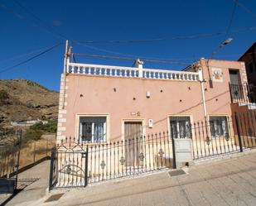
[[186, 81], [198, 81], [198, 72], [174, 71], [163, 69], [139, 69], [134, 67], [122, 67], [112, 65], [89, 65], [69, 63], [67, 73], [89, 74], [99, 76], [130, 77], [144, 79], [174, 79]]

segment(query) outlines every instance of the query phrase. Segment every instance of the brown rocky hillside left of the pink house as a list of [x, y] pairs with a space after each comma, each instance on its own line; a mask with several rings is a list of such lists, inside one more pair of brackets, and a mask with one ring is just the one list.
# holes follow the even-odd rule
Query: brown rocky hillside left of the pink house
[[26, 79], [0, 80], [0, 127], [11, 122], [56, 119], [59, 93]]

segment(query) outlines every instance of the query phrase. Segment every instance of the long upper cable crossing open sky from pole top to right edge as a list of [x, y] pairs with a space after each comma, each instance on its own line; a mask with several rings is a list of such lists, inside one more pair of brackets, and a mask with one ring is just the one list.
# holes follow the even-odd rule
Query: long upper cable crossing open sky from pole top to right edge
[[[234, 12], [232, 12], [234, 13]], [[234, 17], [234, 14], [232, 15]], [[233, 17], [231, 19], [233, 19]], [[232, 20], [233, 21], [233, 20]], [[232, 22], [231, 22], [232, 23]], [[230, 22], [229, 22], [230, 25]], [[230, 27], [230, 26], [229, 26]], [[229, 33], [241, 33], [246, 31], [255, 31], [256, 26], [250, 26], [245, 28], [240, 28], [237, 30], [229, 31]], [[169, 36], [169, 37], [160, 37], [156, 39], [138, 39], [138, 40], [96, 40], [96, 41], [72, 41], [73, 43], [80, 43], [80, 44], [91, 44], [91, 43], [146, 43], [146, 42], [156, 42], [156, 41], [171, 41], [171, 40], [185, 40], [185, 39], [196, 39], [202, 37], [211, 37], [211, 36], [220, 36], [227, 33], [225, 31], [219, 31], [215, 33], [204, 33], [204, 34], [196, 34], [196, 35], [188, 35], [188, 36]]]

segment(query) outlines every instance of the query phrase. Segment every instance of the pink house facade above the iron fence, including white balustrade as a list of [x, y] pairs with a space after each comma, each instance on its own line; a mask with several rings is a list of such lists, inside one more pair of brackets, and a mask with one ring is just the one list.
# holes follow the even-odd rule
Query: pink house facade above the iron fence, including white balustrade
[[[229, 83], [247, 84], [244, 62], [201, 59], [183, 71], [70, 62], [60, 80], [57, 141], [120, 141], [210, 120], [220, 132], [232, 114]], [[240, 91], [236, 91], [236, 94]], [[233, 106], [232, 106], [233, 105]]]

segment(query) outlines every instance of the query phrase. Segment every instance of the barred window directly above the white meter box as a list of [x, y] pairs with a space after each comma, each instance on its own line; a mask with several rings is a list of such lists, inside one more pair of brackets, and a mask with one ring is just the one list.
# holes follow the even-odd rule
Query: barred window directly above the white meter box
[[170, 117], [171, 136], [174, 138], [191, 138], [190, 117]]

